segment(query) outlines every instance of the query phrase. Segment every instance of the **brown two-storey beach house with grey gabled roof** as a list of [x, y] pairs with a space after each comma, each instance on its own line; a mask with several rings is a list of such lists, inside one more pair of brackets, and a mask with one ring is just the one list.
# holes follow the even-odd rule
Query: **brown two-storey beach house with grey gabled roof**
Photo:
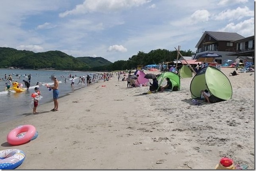
[[215, 58], [217, 63], [224, 64], [225, 60], [235, 61], [235, 57], [227, 55], [230, 54], [230, 51], [227, 51], [227, 49], [236, 48], [237, 42], [234, 41], [243, 38], [243, 36], [237, 33], [205, 31], [196, 44], [197, 50], [193, 59], [198, 59], [198, 56], [201, 54], [212, 52], [222, 56]]

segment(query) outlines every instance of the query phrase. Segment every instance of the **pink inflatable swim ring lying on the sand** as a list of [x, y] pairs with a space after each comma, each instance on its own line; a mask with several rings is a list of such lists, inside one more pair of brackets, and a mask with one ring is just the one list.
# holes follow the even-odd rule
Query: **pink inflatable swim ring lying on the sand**
[[7, 135], [7, 142], [11, 145], [24, 144], [31, 140], [35, 135], [35, 131], [36, 129], [33, 125], [20, 125]]

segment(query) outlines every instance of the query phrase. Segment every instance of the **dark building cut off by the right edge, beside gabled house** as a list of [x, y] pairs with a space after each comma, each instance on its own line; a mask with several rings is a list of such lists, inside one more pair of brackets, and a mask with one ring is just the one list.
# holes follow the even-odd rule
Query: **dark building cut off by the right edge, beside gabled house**
[[237, 44], [235, 48], [229, 48], [229, 56], [239, 56], [240, 60], [244, 61], [254, 61], [254, 36], [242, 38], [239, 40], [233, 41]]

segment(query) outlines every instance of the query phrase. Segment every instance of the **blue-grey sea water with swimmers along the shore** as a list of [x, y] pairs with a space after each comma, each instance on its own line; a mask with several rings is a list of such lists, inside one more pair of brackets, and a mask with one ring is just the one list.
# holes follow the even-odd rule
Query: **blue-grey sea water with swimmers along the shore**
[[[5, 83], [8, 81], [0, 81], [0, 123], [5, 121], [10, 121], [12, 119], [17, 119], [19, 117], [24, 117], [30, 115], [33, 111], [33, 98], [31, 94], [35, 92], [34, 88], [37, 82], [39, 82], [39, 90], [42, 93], [42, 98], [39, 101], [39, 106], [37, 111], [40, 111], [40, 105], [47, 102], [52, 102], [52, 90], [49, 91], [45, 84], [53, 85], [53, 81], [50, 80], [50, 75], [55, 75], [59, 81], [59, 97], [63, 97], [70, 92], [74, 92], [80, 88], [86, 87], [86, 78], [85, 85], [77, 83], [79, 82], [79, 77], [86, 76], [87, 74], [93, 77], [93, 73], [88, 72], [79, 72], [79, 71], [50, 71], [50, 70], [24, 70], [24, 69], [0, 69], [0, 79], [4, 78], [4, 75], [12, 75], [12, 83], [17, 81], [18, 83], [25, 84], [22, 81], [28, 80], [25, 74], [31, 74], [31, 83], [28, 91], [25, 92], [15, 92], [14, 90], [5, 90]], [[20, 76], [16, 76], [16, 74]], [[70, 86], [71, 79], [69, 74], [75, 77], [74, 88]], [[63, 76], [63, 77], [62, 77]], [[65, 78], [67, 82], [65, 83]], [[61, 104], [59, 104], [61, 108]], [[54, 106], [49, 105], [49, 110]]]

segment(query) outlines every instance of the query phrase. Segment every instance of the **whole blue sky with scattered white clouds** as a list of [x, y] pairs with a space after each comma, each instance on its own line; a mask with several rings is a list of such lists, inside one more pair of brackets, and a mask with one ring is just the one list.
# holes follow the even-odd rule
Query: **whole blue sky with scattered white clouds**
[[254, 35], [253, 0], [1, 0], [0, 47], [128, 60], [195, 51], [204, 31]]

